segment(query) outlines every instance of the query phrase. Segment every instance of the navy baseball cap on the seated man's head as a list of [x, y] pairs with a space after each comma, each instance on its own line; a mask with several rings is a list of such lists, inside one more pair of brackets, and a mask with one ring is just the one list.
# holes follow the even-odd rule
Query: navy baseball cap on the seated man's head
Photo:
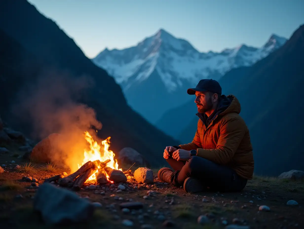
[[214, 79], [201, 79], [195, 88], [189, 88], [187, 93], [189, 95], [195, 95], [195, 92], [212, 92], [218, 95], [222, 95], [222, 87]]

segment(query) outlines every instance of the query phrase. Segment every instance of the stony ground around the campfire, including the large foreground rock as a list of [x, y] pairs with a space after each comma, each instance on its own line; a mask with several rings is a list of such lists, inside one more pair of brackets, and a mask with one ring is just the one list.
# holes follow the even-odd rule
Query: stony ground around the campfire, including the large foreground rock
[[[69, 171], [22, 159], [24, 152], [0, 153], [2, 228], [302, 228], [302, 173], [285, 179], [254, 177], [240, 193], [185, 193], [157, 178], [126, 183], [86, 182], [80, 191], [43, 183]], [[125, 168], [128, 169], [128, 168]], [[147, 169], [137, 169], [137, 171]], [[150, 171], [150, 170], [149, 170]], [[151, 171], [150, 171], [151, 172]], [[292, 180], [293, 179], [293, 180]], [[140, 181], [140, 182], [138, 182]], [[143, 182], [147, 183], [143, 183]], [[58, 187], [57, 187], [58, 186]], [[81, 219], [81, 222], [78, 222]], [[55, 226], [54, 226], [55, 227]], [[58, 227], [58, 226], [56, 226]]]

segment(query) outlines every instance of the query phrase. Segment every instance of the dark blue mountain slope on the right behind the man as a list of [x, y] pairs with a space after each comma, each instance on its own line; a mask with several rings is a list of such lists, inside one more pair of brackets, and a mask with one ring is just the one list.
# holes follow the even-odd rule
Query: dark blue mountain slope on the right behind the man
[[[303, 52], [304, 25], [268, 57], [251, 67], [232, 69], [219, 80], [223, 94], [233, 94], [240, 101], [240, 115], [247, 123], [253, 145], [255, 174], [279, 175], [304, 169]], [[178, 110], [187, 106], [190, 102]], [[179, 120], [191, 120], [178, 133], [182, 142], [190, 142], [194, 137], [198, 120], [194, 116], [192, 113]]]

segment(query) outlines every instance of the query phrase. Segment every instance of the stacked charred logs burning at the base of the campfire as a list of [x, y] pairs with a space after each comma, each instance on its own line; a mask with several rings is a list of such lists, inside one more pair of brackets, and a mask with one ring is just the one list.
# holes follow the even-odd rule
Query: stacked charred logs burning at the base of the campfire
[[[58, 185], [62, 187], [70, 187], [75, 191], [79, 191], [83, 184], [91, 177], [94, 173], [96, 175], [96, 182], [99, 184], [107, 184], [109, 181], [114, 183], [127, 181], [126, 175], [130, 173], [130, 171], [126, 171], [125, 173], [112, 169], [107, 166], [111, 160], [106, 161], [88, 161], [84, 165], [82, 165], [76, 172], [72, 173], [64, 177], [63, 175], [56, 175], [51, 178], [45, 180], [45, 182], [57, 182]], [[109, 176], [109, 180], [107, 179], [107, 175]]]

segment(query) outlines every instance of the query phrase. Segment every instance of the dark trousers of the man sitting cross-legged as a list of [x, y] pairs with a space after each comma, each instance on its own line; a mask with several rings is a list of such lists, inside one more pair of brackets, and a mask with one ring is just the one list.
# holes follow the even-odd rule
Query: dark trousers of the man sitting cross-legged
[[247, 184], [247, 179], [237, 175], [232, 168], [198, 156], [192, 156], [187, 161], [176, 161], [173, 158], [166, 161], [175, 170], [171, 176], [171, 184], [177, 187], [183, 186], [188, 177], [200, 180], [206, 190], [210, 191], [239, 192]]

